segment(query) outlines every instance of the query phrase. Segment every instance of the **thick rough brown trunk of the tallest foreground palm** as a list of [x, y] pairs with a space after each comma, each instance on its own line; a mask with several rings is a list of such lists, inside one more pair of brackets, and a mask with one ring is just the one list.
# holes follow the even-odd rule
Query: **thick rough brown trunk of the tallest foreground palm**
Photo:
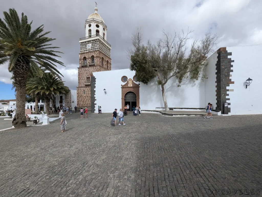
[[29, 71], [29, 62], [26, 58], [18, 58], [14, 65], [13, 75], [16, 85], [16, 113], [12, 121], [15, 128], [26, 127], [25, 102], [26, 102], [26, 81]]

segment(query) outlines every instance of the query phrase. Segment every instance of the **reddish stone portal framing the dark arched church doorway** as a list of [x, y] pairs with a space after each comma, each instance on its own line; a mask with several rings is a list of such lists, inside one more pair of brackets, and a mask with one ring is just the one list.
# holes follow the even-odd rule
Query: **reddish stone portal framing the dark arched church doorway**
[[[124, 109], [125, 104], [130, 105], [129, 110], [133, 106], [139, 106], [139, 84], [136, 84], [134, 80], [129, 79], [122, 87], [122, 109]], [[131, 106], [132, 105], [132, 106]]]

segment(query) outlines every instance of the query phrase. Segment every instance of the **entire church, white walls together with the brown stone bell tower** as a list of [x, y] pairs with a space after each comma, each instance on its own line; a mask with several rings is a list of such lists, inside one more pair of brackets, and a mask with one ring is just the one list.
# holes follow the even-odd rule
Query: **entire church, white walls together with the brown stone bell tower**
[[[85, 36], [80, 38], [77, 106], [97, 112], [140, 106], [141, 110], [164, 110], [161, 87], [156, 80], [148, 85], [138, 82], [129, 69], [111, 70], [111, 45], [106, 41], [107, 26], [97, 13], [85, 23]], [[170, 108], [203, 109], [212, 103], [221, 114], [262, 114], [262, 45], [222, 47], [206, 61], [207, 79], [192, 83], [184, 80], [177, 87], [171, 78], [165, 85]], [[250, 78], [252, 81], [247, 81]]]

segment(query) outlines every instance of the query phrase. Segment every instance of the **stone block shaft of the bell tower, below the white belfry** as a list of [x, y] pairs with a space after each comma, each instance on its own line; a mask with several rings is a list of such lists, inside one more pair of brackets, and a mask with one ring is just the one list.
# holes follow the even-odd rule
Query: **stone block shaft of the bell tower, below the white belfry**
[[[91, 44], [88, 49], [87, 45]], [[92, 63], [92, 57], [94, 63]], [[86, 60], [85, 60], [86, 59]], [[77, 105], [91, 110], [91, 77], [93, 72], [111, 70], [110, 48], [99, 38], [80, 43]], [[91, 110], [92, 112], [94, 110]]]

